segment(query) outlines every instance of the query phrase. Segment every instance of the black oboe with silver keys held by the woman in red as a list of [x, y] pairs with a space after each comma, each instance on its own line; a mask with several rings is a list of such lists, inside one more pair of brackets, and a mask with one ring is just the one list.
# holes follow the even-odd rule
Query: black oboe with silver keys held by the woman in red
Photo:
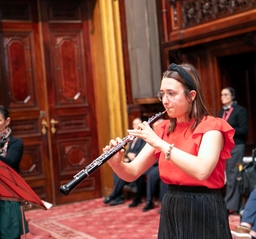
[[[160, 112], [152, 116], [148, 119], [148, 124], [152, 125], [157, 120], [159, 120], [165, 113]], [[90, 176], [95, 170], [97, 170], [102, 164], [104, 164], [106, 161], [108, 161], [111, 157], [113, 157], [117, 152], [119, 152], [121, 149], [124, 149], [124, 146], [127, 145], [130, 141], [134, 140], [135, 136], [128, 135], [124, 138], [122, 138], [121, 142], [118, 143], [117, 146], [111, 148], [110, 150], [104, 152], [102, 155], [100, 155], [98, 158], [93, 160], [85, 169], [82, 169], [80, 172], [78, 172], [76, 175], [73, 176], [73, 180], [68, 182], [65, 185], [62, 185], [60, 187], [60, 192], [67, 196], [69, 193], [84, 179]]]

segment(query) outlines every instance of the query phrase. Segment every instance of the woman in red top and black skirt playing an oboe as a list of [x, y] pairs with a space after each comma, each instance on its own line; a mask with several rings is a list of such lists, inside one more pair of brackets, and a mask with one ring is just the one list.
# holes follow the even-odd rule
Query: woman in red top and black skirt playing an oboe
[[[169, 184], [161, 209], [159, 239], [231, 239], [224, 186], [226, 159], [234, 147], [234, 129], [206, 108], [200, 75], [187, 63], [172, 63], [163, 74], [158, 98], [168, 120], [154, 131], [147, 122], [128, 130], [146, 145], [129, 164], [123, 150], [109, 165], [125, 181], [134, 181], [159, 162], [161, 179]], [[103, 151], [115, 147], [112, 139]]]

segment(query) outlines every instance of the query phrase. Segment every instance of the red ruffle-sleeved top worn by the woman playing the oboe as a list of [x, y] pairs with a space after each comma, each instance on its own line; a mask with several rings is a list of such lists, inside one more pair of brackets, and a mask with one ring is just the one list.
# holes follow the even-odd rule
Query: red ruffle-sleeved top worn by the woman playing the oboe
[[[154, 129], [156, 134], [164, 141], [174, 144], [178, 149], [197, 155], [203, 134], [210, 130], [219, 130], [224, 137], [224, 146], [220, 152], [219, 161], [212, 174], [205, 180], [199, 181], [183, 172], [171, 160], [165, 160], [165, 154], [155, 150], [155, 156], [159, 158], [159, 171], [161, 179], [167, 184], [206, 186], [208, 188], [221, 188], [224, 186], [224, 171], [226, 159], [230, 158], [230, 151], [234, 147], [233, 135], [235, 130], [223, 119], [213, 116], [204, 117], [196, 129], [192, 132], [189, 128], [191, 122], [177, 122], [174, 132], [167, 135], [170, 125], [169, 120], [159, 123]], [[209, 152], [210, 154], [211, 152]]]

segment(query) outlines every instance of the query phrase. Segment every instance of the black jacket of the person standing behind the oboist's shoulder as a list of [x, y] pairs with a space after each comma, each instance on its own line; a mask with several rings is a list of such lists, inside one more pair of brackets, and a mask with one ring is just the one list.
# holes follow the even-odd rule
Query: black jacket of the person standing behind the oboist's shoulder
[[[246, 108], [241, 105], [234, 105], [227, 122], [234, 128], [235, 144], [245, 144], [248, 133], [248, 114]], [[218, 116], [222, 118], [224, 109], [219, 111]]]

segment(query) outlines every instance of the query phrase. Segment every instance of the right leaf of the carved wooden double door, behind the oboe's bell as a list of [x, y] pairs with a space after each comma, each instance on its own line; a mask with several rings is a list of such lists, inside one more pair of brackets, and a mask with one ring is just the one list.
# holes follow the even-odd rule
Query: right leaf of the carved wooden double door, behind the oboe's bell
[[98, 157], [90, 66], [88, 1], [65, 4], [40, 1], [49, 131], [57, 204], [99, 197], [99, 171], [79, 184], [69, 196], [59, 188]]

